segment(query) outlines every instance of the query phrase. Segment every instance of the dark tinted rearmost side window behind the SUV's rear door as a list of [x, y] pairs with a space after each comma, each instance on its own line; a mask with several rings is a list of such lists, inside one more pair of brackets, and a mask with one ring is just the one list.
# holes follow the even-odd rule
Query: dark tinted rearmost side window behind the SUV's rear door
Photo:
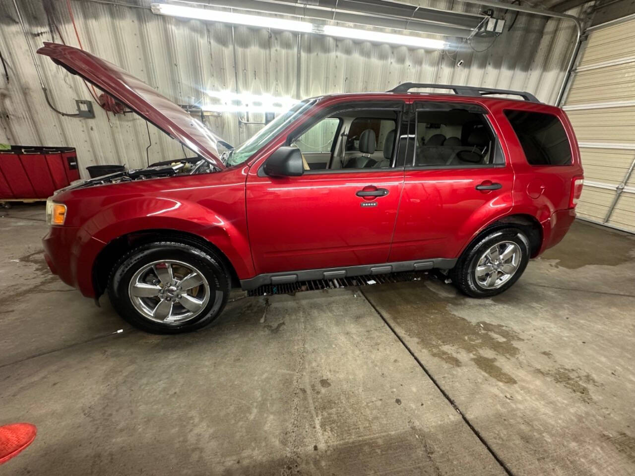
[[524, 110], [505, 110], [505, 116], [531, 165], [571, 165], [571, 146], [558, 117]]

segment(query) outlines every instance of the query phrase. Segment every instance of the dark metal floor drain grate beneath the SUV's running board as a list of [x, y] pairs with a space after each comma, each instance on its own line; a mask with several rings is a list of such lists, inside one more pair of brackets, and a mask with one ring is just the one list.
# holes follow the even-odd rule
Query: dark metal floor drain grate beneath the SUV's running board
[[337, 279], [314, 279], [312, 281], [290, 282], [288, 284], [265, 284], [251, 289], [247, 296], [269, 296], [271, 294], [295, 294], [319, 289], [338, 289], [349, 286], [372, 286], [389, 282], [421, 281], [429, 278], [429, 271], [404, 271], [401, 273], [352, 276]]

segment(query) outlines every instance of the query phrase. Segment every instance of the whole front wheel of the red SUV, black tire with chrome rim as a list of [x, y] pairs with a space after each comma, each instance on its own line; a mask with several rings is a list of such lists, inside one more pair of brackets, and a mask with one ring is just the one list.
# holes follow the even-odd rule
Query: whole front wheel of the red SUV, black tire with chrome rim
[[222, 312], [231, 279], [211, 251], [157, 241], [138, 246], [114, 266], [112, 307], [139, 329], [177, 334], [207, 326]]

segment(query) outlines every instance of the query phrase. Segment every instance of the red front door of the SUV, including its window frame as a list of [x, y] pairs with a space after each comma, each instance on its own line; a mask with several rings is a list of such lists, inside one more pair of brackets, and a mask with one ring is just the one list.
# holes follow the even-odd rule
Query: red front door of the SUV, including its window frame
[[[305, 157], [304, 175], [295, 177], [266, 176], [262, 161], [252, 167], [258, 173], [250, 170], [246, 208], [257, 274], [387, 260], [403, 188], [403, 161], [395, 166], [399, 148], [407, 145], [407, 137], [399, 140], [395, 132], [402, 109], [394, 102], [338, 103], [300, 124], [284, 142], [307, 155], [311, 147], [327, 152], [318, 166]], [[351, 154], [346, 131], [360, 117], [373, 120], [373, 131]]]

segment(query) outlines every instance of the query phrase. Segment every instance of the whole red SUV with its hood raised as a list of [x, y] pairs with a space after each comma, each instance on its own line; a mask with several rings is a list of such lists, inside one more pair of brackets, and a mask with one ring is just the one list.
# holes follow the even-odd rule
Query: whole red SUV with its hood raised
[[[468, 296], [493, 296], [575, 218], [572, 126], [528, 93], [326, 95], [231, 147], [100, 58], [55, 43], [38, 53], [196, 154], [74, 183], [47, 204], [52, 272], [91, 298], [107, 289], [146, 331], [209, 324], [231, 286], [439, 268]], [[409, 92], [431, 87], [455, 94]]]

